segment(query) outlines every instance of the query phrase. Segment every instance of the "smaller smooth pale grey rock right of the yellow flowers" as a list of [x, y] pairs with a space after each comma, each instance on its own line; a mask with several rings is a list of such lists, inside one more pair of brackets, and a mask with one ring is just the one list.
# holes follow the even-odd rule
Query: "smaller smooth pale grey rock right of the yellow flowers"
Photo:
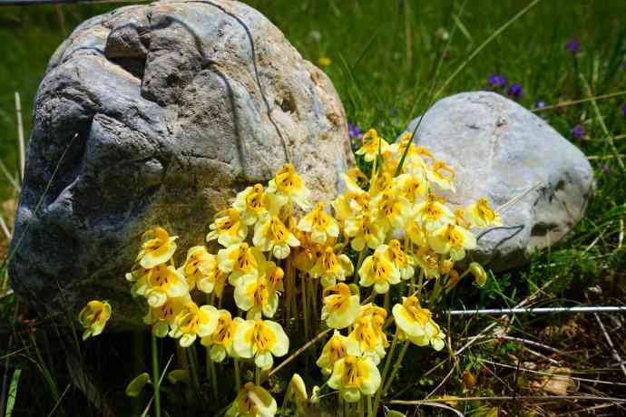
[[[413, 131], [417, 121], [406, 130]], [[416, 143], [455, 168], [454, 204], [466, 207], [485, 196], [499, 208], [523, 196], [501, 213], [507, 228], [486, 233], [472, 254], [496, 272], [522, 266], [535, 248], [563, 238], [582, 218], [595, 187], [580, 150], [494, 92], [464, 92], [436, 102], [425, 113]]]

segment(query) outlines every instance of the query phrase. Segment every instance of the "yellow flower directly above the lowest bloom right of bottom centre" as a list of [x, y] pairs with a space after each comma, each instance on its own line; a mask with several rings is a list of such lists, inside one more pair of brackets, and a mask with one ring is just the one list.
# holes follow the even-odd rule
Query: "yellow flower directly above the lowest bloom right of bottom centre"
[[371, 357], [375, 364], [385, 357], [388, 345], [383, 332], [386, 310], [377, 305], [363, 305], [361, 314], [354, 323], [352, 332], [347, 338], [357, 345], [360, 355]]

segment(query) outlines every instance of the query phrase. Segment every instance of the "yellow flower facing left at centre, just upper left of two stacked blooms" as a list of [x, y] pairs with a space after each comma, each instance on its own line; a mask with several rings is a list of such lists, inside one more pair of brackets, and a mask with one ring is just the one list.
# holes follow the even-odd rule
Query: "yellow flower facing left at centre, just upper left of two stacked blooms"
[[328, 327], [343, 329], [352, 325], [361, 311], [358, 295], [352, 295], [346, 284], [339, 283], [324, 288], [322, 320], [326, 320]]

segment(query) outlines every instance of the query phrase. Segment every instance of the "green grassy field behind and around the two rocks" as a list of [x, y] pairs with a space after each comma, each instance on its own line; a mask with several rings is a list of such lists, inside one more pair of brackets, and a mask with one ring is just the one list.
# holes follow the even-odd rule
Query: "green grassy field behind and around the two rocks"
[[[386, 137], [393, 138], [404, 130], [408, 121], [425, 112], [433, 92], [445, 84], [470, 53], [531, 2], [256, 0], [248, 3], [268, 16], [305, 58], [313, 63], [329, 58], [330, 63], [324, 69], [344, 102], [349, 121], [364, 130], [377, 127]], [[76, 24], [115, 6], [0, 7], [0, 159], [13, 173], [18, 166], [14, 92], [22, 95], [24, 126], [28, 132], [34, 94], [56, 46]], [[537, 102], [551, 106], [588, 99], [590, 94], [624, 92], [624, 16], [626, 2], [618, 0], [540, 1], [466, 63], [463, 71], [445, 87], [443, 95], [488, 88], [487, 80], [492, 73], [506, 76], [509, 85], [522, 84], [523, 97], [519, 102], [528, 109], [535, 109]], [[567, 50], [566, 44], [572, 39], [580, 42], [580, 52]], [[506, 94], [506, 89], [500, 92]], [[566, 242], [537, 253], [528, 267], [496, 276], [482, 291], [465, 287], [463, 297], [453, 294], [450, 305], [515, 305], [530, 295], [535, 296], [537, 305], [626, 305], [623, 245], [626, 173], [618, 163], [626, 153], [626, 95], [599, 99], [597, 105], [597, 112], [592, 102], [541, 112], [592, 162], [598, 188], [586, 217]], [[580, 138], [572, 133], [576, 126], [585, 132]], [[616, 150], [609, 146], [609, 136]], [[4, 177], [0, 178], [0, 201], [15, 199], [15, 189]], [[3, 316], [12, 311], [8, 306], [3, 307]], [[623, 320], [602, 317], [607, 327], [614, 330], [613, 342], [623, 352], [626, 346], [626, 332], [620, 327]], [[491, 318], [468, 319], [448, 327], [457, 341], [455, 346], [459, 347], [464, 337], [474, 335], [492, 322]], [[593, 315], [518, 317], [509, 325], [508, 337], [532, 339], [567, 354], [531, 349], [543, 355], [536, 356], [528, 352], [528, 346], [496, 338], [460, 355], [447, 379], [450, 364], [439, 366], [421, 356], [412, 357], [407, 369], [419, 370], [422, 376], [415, 381], [411, 372], [401, 375], [399, 385], [404, 383], [406, 390], [396, 393], [396, 398], [424, 398], [441, 381], [445, 383], [438, 388], [439, 395], [460, 395], [464, 390], [473, 395], [546, 393], [542, 387], [535, 387], [534, 391], [528, 388], [537, 382], [533, 375], [515, 371], [512, 364], [522, 361], [528, 366], [535, 364], [540, 371], [545, 371], [548, 365], [568, 369], [578, 378], [572, 381], [579, 393], [626, 396], [626, 389], [620, 385], [624, 375], [601, 342], [603, 335]], [[103, 339], [103, 343], [107, 340], [112, 341]], [[122, 348], [118, 351], [115, 357], [123, 358]], [[498, 364], [509, 364], [513, 369]], [[103, 366], [98, 364], [92, 370], [98, 374]], [[439, 367], [424, 375], [433, 366]], [[476, 385], [466, 383], [465, 371], [474, 375]], [[127, 374], [113, 378], [120, 386], [112, 385], [106, 395], [118, 398], [123, 390], [122, 382], [132, 376], [132, 370], [128, 370]], [[594, 378], [604, 383], [584, 381]], [[61, 385], [63, 388], [64, 384]], [[48, 403], [42, 399], [35, 402], [35, 407], [47, 413]], [[465, 407], [468, 415], [484, 415], [493, 405], [466, 402], [460, 407]], [[569, 401], [543, 405], [512, 402], [503, 406], [503, 415], [531, 412], [577, 415], [593, 405]], [[420, 410], [424, 415], [432, 412]], [[608, 410], [604, 415], [626, 412], [619, 407]]]

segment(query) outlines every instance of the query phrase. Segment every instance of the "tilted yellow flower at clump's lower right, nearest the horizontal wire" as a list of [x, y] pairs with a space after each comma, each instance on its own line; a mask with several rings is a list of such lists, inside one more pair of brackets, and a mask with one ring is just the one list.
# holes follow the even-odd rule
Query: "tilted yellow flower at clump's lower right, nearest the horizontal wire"
[[437, 351], [443, 349], [444, 333], [433, 320], [430, 311], [419, 305], [416, 296], [402, 297], [402, 304], [394, 305], [392, 312], [403, 337], [418, 346], [431, 344]]

